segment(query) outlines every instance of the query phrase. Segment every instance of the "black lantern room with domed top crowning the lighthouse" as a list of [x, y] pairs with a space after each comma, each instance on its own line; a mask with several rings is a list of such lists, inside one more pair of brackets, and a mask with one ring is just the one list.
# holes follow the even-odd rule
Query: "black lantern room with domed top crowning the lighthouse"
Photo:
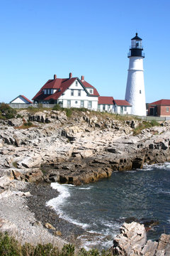
[[128, 58], [130, 57], [143, 57], [145, 58], [144, 53], [142, 53], [143, 46], [142, 46], [142, 39], [137, 36], [131, 39], [131, 46], [130, 51], [128, 53]]

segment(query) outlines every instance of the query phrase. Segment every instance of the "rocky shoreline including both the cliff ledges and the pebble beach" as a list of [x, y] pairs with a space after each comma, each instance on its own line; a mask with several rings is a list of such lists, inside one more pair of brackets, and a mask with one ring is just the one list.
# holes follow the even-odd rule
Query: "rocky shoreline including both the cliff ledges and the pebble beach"
[[[65, 112], [46, 110], [19, 114], [22, 118], [0, 123], [0, 230], [17, 234], [23, 242], [39, 242], [42, 235], [42, 242], [79, 247], [79, 235], [87, 235], [45, 206], [58, 195], [51, 182], [79, 186], [108, 178], [113, 171], [170, 161], [168, 123], [134, 135], [141, 123], [136, 119], [91, 112], [68, 118]], [[33, 127], [23, 129], [29, 120]]]

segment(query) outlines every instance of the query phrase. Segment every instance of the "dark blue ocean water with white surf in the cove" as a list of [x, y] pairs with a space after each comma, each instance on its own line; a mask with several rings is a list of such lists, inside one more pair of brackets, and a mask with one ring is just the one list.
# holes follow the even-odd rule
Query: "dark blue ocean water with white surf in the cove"
[[60, 195], [47, 202], [60, 218], [81, 226], [86, 249], [108, 249], [125, 220], [158, 220], [147, 233], [157, 240], [170, 233], [170, 163], [135, 171], [114, 171], [110, 178], [82, 186], [52, 183]]

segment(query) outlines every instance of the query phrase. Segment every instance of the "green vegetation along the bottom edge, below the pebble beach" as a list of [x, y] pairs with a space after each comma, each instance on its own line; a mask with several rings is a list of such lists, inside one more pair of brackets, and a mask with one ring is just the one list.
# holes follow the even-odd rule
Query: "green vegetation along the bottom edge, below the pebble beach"
[[111, 252], [103, 250], [98, 252], [96, 249], [86, 251], [81, 248], [75, 252], [74, 245], [67, 244], [59, 250], [51, 243], [47, 245], [21, 245], [17, 240], [8, 236], [7, 233], [0, 233], [0, 255], [1, 256], [111, 256]]

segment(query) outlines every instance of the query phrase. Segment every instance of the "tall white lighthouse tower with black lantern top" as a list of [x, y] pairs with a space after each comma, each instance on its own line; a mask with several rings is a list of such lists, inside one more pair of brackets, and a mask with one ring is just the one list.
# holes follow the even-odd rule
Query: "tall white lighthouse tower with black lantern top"
[[132, 105], [131, 114], [146, 116], [145, 85], [143, 74], [142, 39], [137, 36], [131, 39], [128, 69], [128, 80], [126, 85], [125, 100]]

